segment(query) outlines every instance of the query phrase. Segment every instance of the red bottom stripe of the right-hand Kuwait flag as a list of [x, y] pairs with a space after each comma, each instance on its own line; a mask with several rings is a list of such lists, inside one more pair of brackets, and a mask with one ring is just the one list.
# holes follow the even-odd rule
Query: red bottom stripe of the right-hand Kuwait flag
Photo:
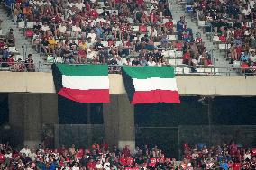
[[136, 103], [180, 103], [178, 91], [135, 91], [132, 104]]

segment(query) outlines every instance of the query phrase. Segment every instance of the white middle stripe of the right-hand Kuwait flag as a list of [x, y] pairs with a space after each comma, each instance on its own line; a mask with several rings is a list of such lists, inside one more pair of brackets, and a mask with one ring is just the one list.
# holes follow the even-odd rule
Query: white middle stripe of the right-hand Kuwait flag
[[151, 77], [147, 79], [133, 78], [135, 91], [171, 90], [178, 91], [175, 78]]

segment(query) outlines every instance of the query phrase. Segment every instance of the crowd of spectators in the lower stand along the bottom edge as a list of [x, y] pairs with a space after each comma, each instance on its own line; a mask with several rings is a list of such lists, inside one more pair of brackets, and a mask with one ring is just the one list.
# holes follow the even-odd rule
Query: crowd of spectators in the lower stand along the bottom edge
[[0, 144], [1, 169], [20, 170], [55, 170], [55, 169], [88, 169], [88, 170], [253, 170], [256, 169], [256, 148], [241, 148], [235, 143], [207, 148], [206, 145], [195, 145], [190, 148], [184, 144], [184, 156], [181, 161], [165, 157], [164, 151], [156, 145], [149, 148], [138, 146], [132, 151], [129, 146], [119, 150], [115, 145], [109, 148], [93, 144], [90, 148], [49, 149], [39, 145], [38, 148], [25, 146], [15, 150], [8, 144]]

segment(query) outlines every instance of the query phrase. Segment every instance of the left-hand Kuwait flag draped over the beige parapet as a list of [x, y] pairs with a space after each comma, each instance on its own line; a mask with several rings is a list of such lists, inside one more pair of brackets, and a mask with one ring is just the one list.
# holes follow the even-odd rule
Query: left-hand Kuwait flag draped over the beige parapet
[[56, 92], [79, 103], [109, 103], [107, 65], [53, 64]]

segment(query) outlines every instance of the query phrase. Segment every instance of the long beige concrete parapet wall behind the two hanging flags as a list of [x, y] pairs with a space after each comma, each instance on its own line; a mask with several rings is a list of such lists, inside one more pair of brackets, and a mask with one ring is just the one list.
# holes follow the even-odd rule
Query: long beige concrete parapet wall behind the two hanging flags
[[[55, 93], [51, 73], [0, 72], [0, 92]], [[121, 75], [110, 74], [110, 93], [125, 94]], [[176, 76], [181, 95], [256, 95], [256, 77]]]

